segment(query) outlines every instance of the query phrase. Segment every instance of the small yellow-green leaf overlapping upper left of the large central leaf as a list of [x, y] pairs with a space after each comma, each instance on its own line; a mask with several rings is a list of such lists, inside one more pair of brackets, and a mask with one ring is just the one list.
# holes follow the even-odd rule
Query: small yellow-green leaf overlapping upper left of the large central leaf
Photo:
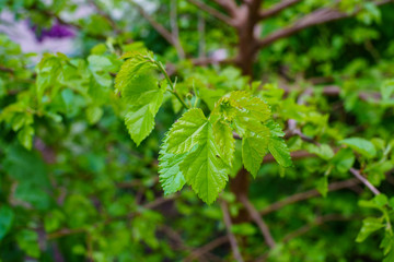
[[177, 120], [171, 128], [169, 136], [167, 151], [179, 154], [192, 151], [192, 148], [205, 135], [205, 129], [208, 124], [207, 118], [201, 109], [190, 109]]

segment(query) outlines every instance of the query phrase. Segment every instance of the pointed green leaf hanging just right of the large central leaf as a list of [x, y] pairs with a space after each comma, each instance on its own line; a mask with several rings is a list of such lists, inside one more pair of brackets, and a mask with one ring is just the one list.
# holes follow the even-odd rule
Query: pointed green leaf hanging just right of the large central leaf
[[256, 178], [263, 158], [267, 154], [268, 142], [269, 129], [265, 127], [258, 132], [250, 132], [242, 139], [242, 160], [246, 170], [254, 178]]

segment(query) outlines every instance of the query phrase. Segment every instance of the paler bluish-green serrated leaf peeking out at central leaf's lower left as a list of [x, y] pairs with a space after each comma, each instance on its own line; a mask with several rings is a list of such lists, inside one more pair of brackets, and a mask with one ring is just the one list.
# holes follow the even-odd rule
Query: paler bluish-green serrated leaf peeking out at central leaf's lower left
[[163, 142], [159, 156], [159, 177], [165, 195], [179, 191], [186, 183], [179, 168], [179, 164], [185, 159], [186, 155], [187, 153], [169, 153], [167, 143], [166, 141]]

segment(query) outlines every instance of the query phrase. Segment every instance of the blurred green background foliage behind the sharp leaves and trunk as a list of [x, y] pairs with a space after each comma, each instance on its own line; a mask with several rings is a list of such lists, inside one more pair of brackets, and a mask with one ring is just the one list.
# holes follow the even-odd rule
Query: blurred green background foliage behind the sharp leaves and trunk
[[[245, 73], [232, 60], [243, 28], [194, 2], [0, 1], [0, 260], [234, 260], [220, 206], [241, 212], [231, 189], [212, 205], [188, 188], [163, 196], [159, 145], [181, 104], [164, 98], [138, 147], [125, 128], [127, 105], [114, 92], [119, 57], [149, 49], [188, 103], [198, 87], [206, 112], [230, 91], [248, 90], [285, 130], [296, 120], [318, 141], [288, 135], [290, 150], [309, 157], [294, 154], [286, 169], [268, 159], [252, 179], [248, 198], [276, 248], [251, 219], [233, 223], [244, 261], [394, 261], [394, 4], [293, 1], [256, 25], [257, 36], [324, 8], [349, 17], [265, 46]], [[199, 2], [225, 14], [221, 1]], [[19, 37], [21, 26], [30, 38]], [[350, 170], [382, 194], [373, 198]]]

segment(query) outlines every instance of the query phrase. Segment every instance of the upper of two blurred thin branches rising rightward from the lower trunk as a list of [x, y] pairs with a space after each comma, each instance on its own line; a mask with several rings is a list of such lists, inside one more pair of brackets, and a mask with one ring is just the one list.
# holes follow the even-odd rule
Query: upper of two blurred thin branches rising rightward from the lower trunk
[[[345, 180], [345, 181], [339, 181], [339, 182], [333, 182], [333, 183], [328, 184], [328, 192], [337, 191], [337, 190], [345, 189], [345, 188], [351, 188], [351, 187], [355, 187], [356, 184], [359, 184], [359, 183], [360, 183], [360, 181], [358, 179], [356, 179], [356, 178], [348, 179], [348, 180]], [[290, 205], [290, 204], [293, 204], [293, 203], [297, 203], [297, 202], [300, 202], [300, 201], [303, 201], [303, 200], [308, 200], [308, 199], [311, 199], [311, 198], [315, 198], [315, 196], [318, 196], [318, 195], [321, 195], [321, 193], [316, 189], [309, 190], [309, 191], [305, 191], [305, 192], [302, 192], [302, 193], [296, 193], [296, 194], [290, 195], [290, 196], [288, 196], [288, 198], [286, 198], [283, 200], [275, 202], [274, 204], [268, 205], [264, 210], [259, 211], [259, 214], [260, 215], [267, 215], [269, 213], [273, 213], [275, 211], [278, 211], [278, 210], [282, 209], [286, 205]]]

